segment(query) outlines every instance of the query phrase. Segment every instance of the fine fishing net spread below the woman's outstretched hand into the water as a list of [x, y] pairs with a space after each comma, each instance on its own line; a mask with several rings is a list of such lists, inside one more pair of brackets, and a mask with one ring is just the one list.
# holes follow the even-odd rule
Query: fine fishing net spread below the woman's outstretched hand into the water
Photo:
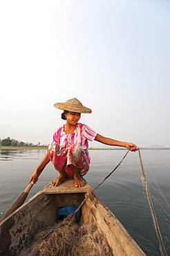
[[[142, 188], [143, 188], [143, 194], [144, 198], [147, 200], [147, 203], [149, 204], [149, 210], [151, 213], [152, 221], [153, 221], [153, 227], [155, 229], [155, 235], [158, 239], [158, 245], [160, 250], [161, 256], [167, 256], [170, 255], [170, 237], [169, 237], [169, 202], [167, 201], [166, 197], [164, 196], [160, 185], [158, 185], [158, 182], [155, 180], [153, 173], [151, 172], [149, 166], [146, 166], [148, 170], [148, 175], [146, 175], [146, 172], [144, 170], [144, 165], [142, 162], [142, 156], [139, 149], [139, 158], [140, 158], [140, 167], [142, 170], [142, 176], [138, 174], [137, 172], [134, 172], [133, 170], [125, 170], [126, 172], [130, 172], [131, 174], [134, 174], [135, 176], [138, 176], [142, 181]], [[144, 247], [144, 244], [142, 245]], [[147, 253], [149, 255], [151, 252], [149, 252], [149, 249], [145, 248]], [[158, 255], [155, 253], [154, 255]]]

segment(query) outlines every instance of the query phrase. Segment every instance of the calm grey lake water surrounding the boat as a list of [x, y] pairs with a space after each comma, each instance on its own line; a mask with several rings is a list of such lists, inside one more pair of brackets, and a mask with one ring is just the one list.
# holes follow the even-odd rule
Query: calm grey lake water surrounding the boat
[[[0, 149], [0, 217], [26, 188], [28, 179], [41, 161], [46, 149]], [[91, 150], [91, 169], [85, 179], [95, 188], [121, 161], [126, 150]], [[144, 170], [151, 186], [155, 213], [167, 255], [170, 255], [169, 215], [169, 149], [141, 150]], [[49, 163], [32, 187], [28, 199], [55, 179], [57, 172]], [[122, 165], [95, 190], [115, 214], [146, 255], [160, 255], [149, 205], [142, 188], [138, 152], [129, 152]], [[164, 198], [160, 192], [164, 194]]]

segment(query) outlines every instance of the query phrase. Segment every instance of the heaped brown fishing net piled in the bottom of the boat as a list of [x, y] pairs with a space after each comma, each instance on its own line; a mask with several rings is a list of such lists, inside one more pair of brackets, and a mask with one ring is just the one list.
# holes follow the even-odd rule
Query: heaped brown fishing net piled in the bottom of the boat
[[22, 256], [113, 255], [100, 228], [93, 223], [79, 226], [75, 221], [64, 220], [57, 223], [48, 236], [51, 227], [44, 227], [37, 235], [33, 235], [35, 233], [33, 227], [36, 229], [36, 223], [32, 225], [31, 229], [33, 242], [28, 241], [26, 250], [22, 250], [20, 253]]

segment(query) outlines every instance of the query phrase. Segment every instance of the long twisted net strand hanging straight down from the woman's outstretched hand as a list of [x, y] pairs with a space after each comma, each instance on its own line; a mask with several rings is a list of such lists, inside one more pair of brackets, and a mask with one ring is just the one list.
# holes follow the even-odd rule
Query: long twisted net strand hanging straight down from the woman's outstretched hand
[[156, 233], [156, 236], [158, 238], [159, 247], [160, 247], [160, 254], [162, 256], [167, 256], [167, 252], [166, 252], [166, 249], [164, 247], [164, 242], [162, 240], [162, 235], [161, 235], [161, 232], [160, 232], [160, 227], [159, 227], [159, 224], [158, 224], [158, 219], [156, 217], [155, 210], [153, 208], [153, 202], [152, 202], [152, 199], [151, 199], [151, 192], [149, 190], [149, 184], [148, 184], [148, 181], [147, 181], [146, 174], [144, 172], [144, 166], [143, 166], [143, 163], [142, 163], [142, 157], [141, 157], [141, 154], [140, 154], [140, 149], [139, 149], [139, 158], [140, 158], [140, 165], [141, 165], [142, 175], [143, 175], [142, 179], [143, 179], [143, 182], [144, 182], [144, 190], [145, 190], [146, 195], [147, 195], [149, 210], [151, 212], [151, 217], [153, 219], [153, 226], [155, 228], [155, 233]]

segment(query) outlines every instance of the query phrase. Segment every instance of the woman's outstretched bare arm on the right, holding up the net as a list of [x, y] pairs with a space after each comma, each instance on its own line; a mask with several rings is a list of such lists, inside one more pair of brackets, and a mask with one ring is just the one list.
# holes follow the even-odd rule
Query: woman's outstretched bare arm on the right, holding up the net
[[112, 138], [106, 138], [100, 134], [96, 135], [95, 140], [98, 141], [99, 143], [103, 143], [103, 144], [110, 145], [110, 146], [126, 147], [130, 151], [134, 151], [134, 152], [139, 149], [133, 143], [126, 143], [126, 142], [122, 142], [119, 140], [113, 140]]

